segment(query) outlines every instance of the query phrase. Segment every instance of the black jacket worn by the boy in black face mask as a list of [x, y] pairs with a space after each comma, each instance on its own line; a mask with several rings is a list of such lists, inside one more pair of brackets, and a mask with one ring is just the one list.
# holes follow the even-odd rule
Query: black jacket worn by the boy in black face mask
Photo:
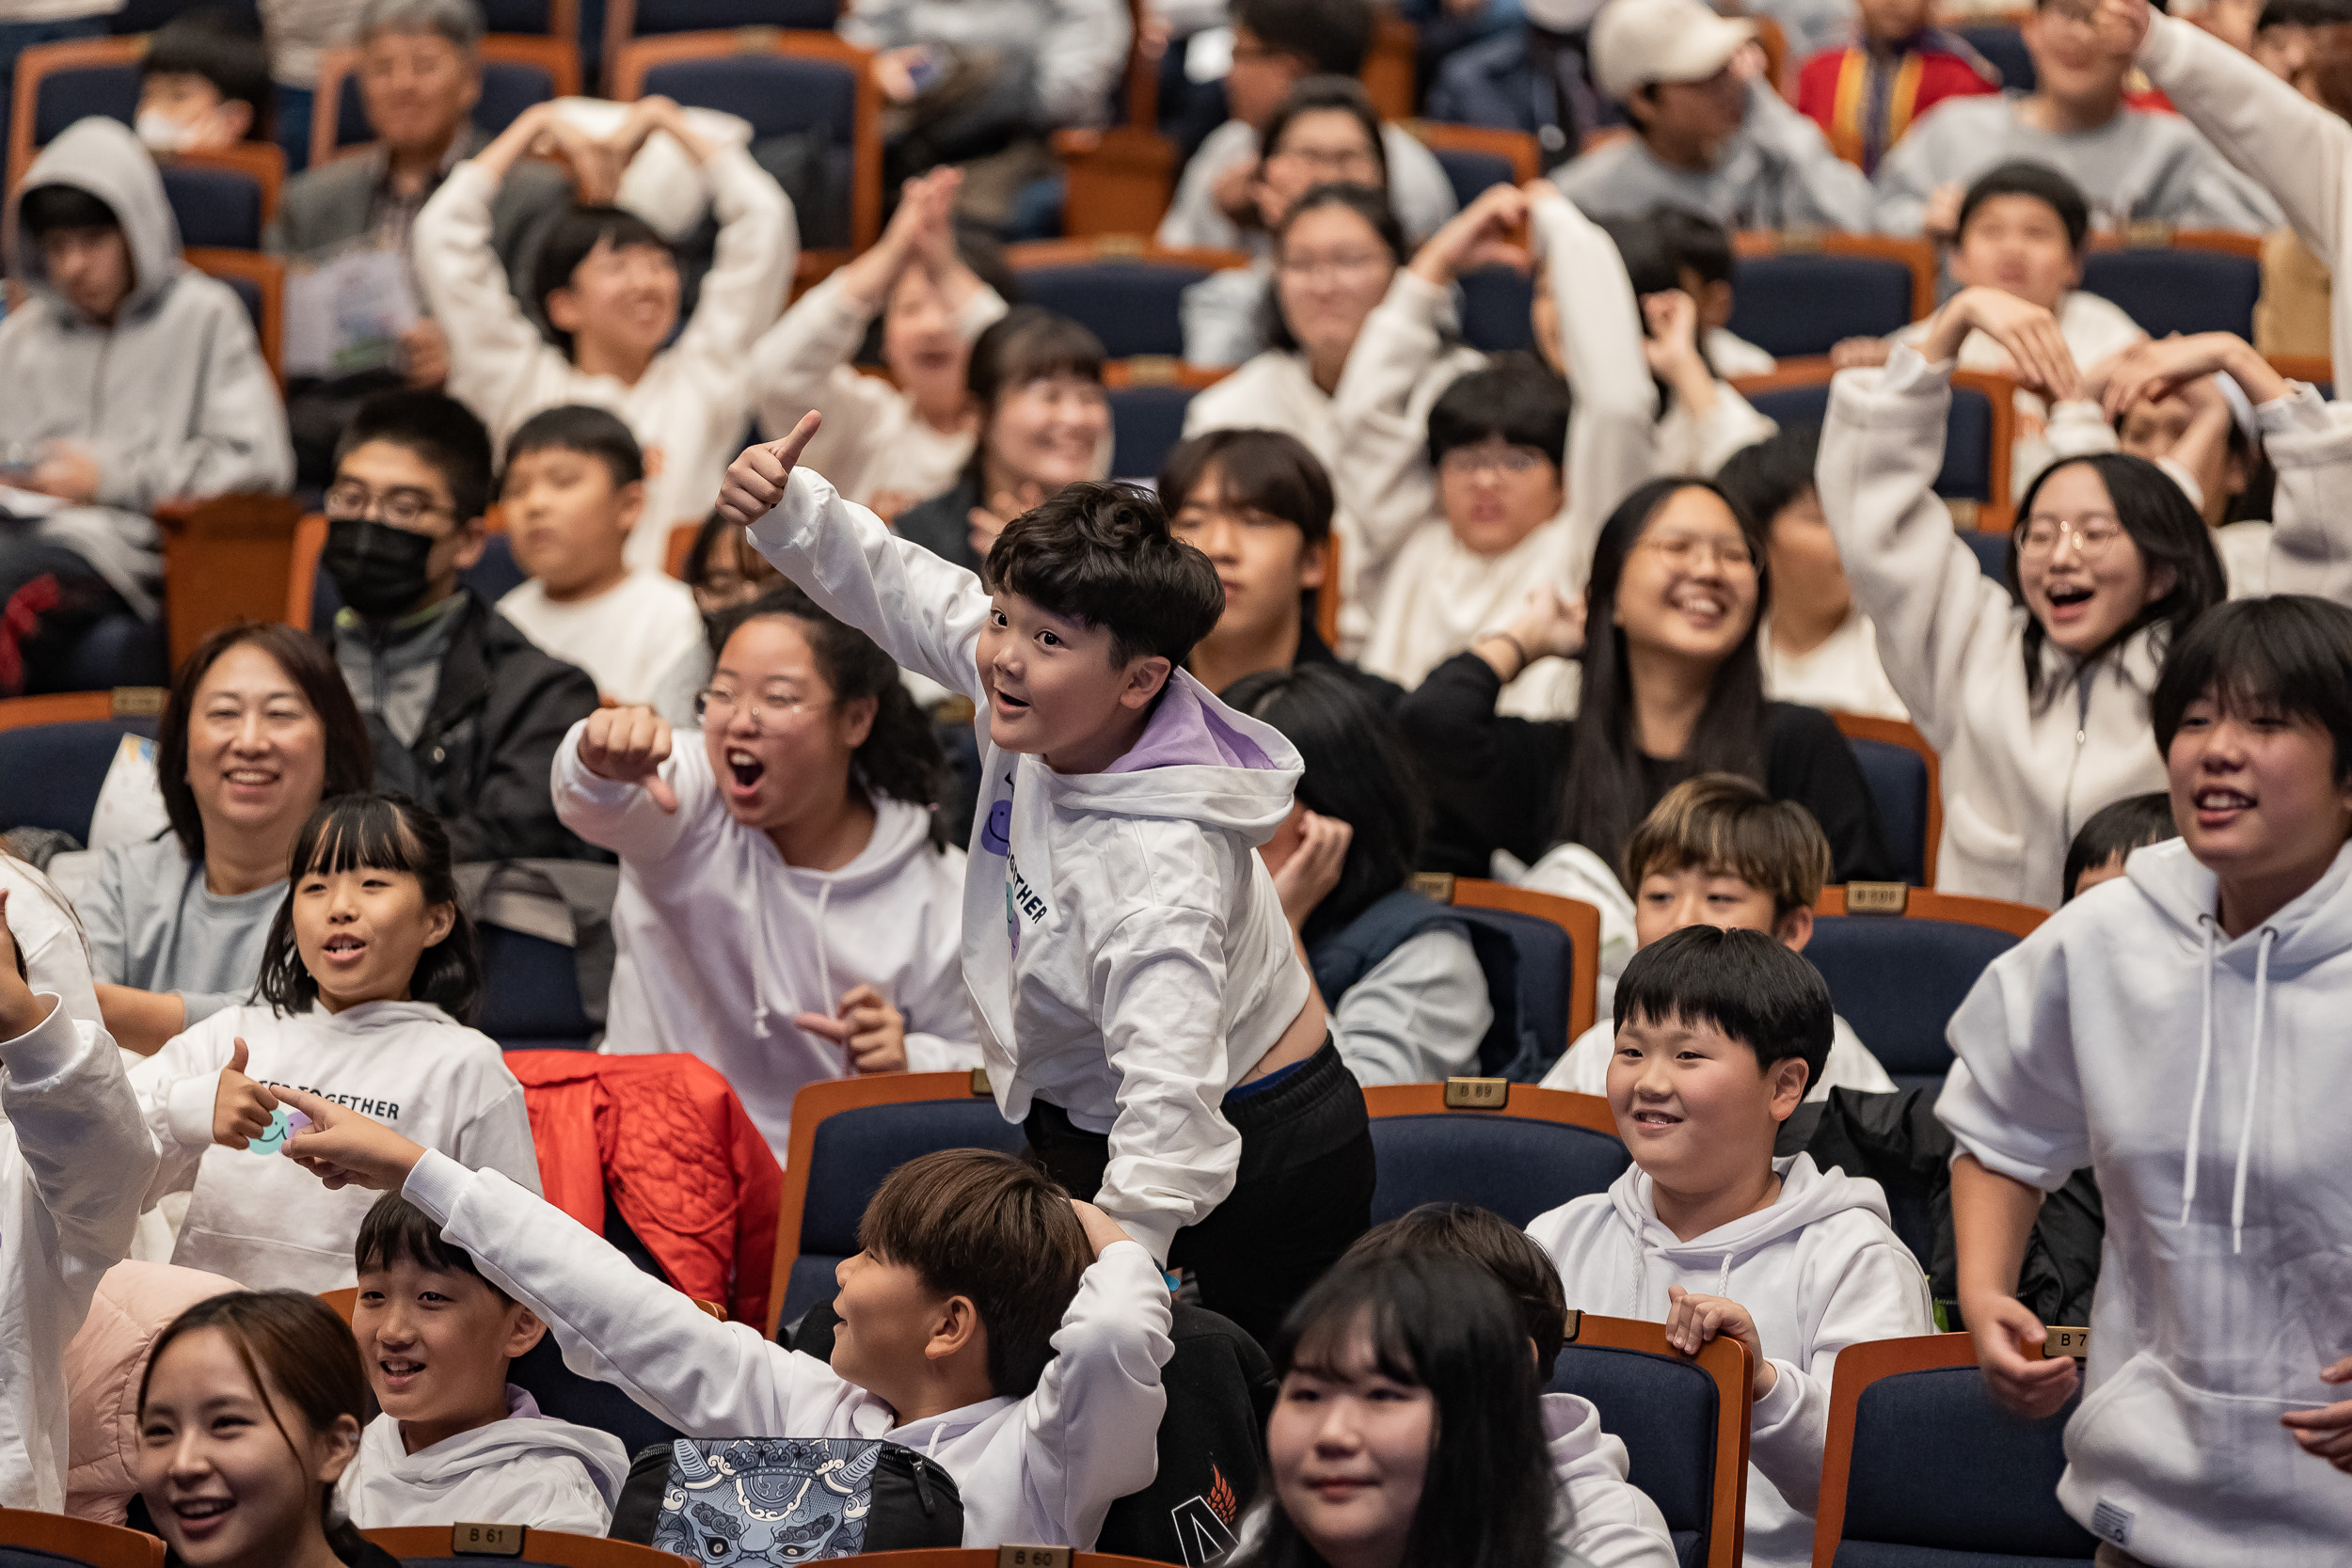
[[597, 710], [595, 682], [541, 654], [513, 621], [459, 588], [466, 607], [416, 745], [374, 715], [376, 788], [433, 806], [459, 860], [602, 860], [555, 820], [550, 773], [564, 733]]

